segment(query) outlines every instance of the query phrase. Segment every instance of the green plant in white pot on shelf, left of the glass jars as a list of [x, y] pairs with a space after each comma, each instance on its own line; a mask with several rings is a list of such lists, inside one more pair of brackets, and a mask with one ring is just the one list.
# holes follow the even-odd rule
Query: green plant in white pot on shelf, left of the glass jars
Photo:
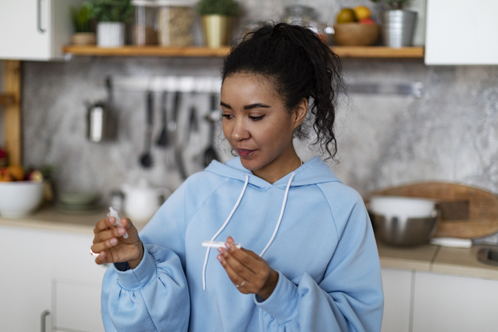
[[125, 23], [133, 17], [131, 0], [89, 0], [91, 17], [97, 21], [97, 45], [125, 45]]

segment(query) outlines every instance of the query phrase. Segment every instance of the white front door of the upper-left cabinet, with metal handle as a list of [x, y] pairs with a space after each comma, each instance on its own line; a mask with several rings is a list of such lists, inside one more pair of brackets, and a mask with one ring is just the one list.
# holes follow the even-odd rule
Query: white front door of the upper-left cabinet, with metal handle
[[0, 1], [0, 58], [50, 58], [51, 1]]

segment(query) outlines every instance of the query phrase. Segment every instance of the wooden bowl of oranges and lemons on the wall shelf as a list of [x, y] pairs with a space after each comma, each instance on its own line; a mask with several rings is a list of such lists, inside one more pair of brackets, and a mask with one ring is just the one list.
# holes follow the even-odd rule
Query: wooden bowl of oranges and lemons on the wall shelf
[[341, 46], [370, 46], [379, 38], [380, 29], [365, 6], [343, 8], [337, 14], [334, 41]]

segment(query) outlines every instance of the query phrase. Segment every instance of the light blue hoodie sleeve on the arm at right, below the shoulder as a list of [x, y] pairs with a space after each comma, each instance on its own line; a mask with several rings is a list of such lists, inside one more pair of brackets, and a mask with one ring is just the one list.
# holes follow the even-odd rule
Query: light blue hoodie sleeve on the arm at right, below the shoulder
[[380, 262], [365, 205], [353, 196], [351, 208], [332, 209], [339, 237], [323, 280], [305, 273], [296, 285], [279, 272], [272, 295], [255, 297], [262, 331], [380, 331]]

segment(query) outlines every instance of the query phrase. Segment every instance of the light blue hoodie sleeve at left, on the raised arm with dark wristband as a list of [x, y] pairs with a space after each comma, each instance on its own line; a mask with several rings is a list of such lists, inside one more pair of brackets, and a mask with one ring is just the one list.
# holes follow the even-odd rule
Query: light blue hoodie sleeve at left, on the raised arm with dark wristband
[[144, 257], [135, 269], [128, 263], [107, 269], [101, 295], [106, 331], [187, 331], [184, 196], [180, 186], [140, 232]]

